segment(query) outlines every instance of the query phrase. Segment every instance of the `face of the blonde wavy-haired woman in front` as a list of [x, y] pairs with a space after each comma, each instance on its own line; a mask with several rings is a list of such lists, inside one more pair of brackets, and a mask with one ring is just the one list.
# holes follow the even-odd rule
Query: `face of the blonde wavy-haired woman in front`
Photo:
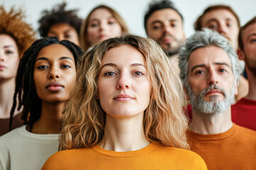
[[151, 84], [145, 59], [130, 45], [107, 51], [97, 81], [100, 105], [115, 118], [143, 114], [149, 106]]

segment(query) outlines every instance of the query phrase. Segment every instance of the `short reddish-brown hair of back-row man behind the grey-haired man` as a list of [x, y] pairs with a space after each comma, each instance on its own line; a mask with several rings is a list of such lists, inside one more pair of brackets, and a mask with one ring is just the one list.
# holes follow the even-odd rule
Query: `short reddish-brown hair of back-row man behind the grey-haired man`
[[238, 28], [240, 28], [240, 20], [238, 18], [238, 15], [235, 13], [235, 11], [233, 11], [233, 8], [225, 5], [215, 5], [215, 6], [208, 6], [208, 8], [206, 8], [205, 11], [203, 11], [203, 14], [197, 18], [196, 22], [194, 23], [195, 30], [202, 30], [202, 19], [206, 13], [210, 11], [215, 11], [218, 9], [225, 9], [230, 11], [230, 13], [232, 13], [233, 16], [235, 16], [235, 19], [238, 21]]

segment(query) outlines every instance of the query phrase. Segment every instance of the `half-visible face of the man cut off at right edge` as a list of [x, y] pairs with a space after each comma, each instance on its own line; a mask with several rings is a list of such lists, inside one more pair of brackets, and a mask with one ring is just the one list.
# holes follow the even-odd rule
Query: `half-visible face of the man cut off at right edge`
[[244, 45], [245, 65], [256, 77], [256, 23], [245, 28], [242, 43]]

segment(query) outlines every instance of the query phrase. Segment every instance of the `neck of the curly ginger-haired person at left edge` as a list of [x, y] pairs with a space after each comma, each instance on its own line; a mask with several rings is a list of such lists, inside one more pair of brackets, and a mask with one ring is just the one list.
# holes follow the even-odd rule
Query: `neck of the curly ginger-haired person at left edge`
[[15, 78], [0, 81], [0, 118], [10, 117], [11, 106], [14, 100], [14, 91]]

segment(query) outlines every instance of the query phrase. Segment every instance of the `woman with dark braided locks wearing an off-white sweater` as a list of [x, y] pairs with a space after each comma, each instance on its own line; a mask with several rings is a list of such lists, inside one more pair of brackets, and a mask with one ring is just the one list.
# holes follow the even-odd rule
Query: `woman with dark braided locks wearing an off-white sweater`
[[[18, 65], [14, 104], [23, 108], [23, 126], [0, 137], [0, 169], [41, 169], [58, 151], [65, 102], [75, 85], [80, 47], [43, 38], [26, 50]], [[18, 103], [17, 103], [18, 100]]]

